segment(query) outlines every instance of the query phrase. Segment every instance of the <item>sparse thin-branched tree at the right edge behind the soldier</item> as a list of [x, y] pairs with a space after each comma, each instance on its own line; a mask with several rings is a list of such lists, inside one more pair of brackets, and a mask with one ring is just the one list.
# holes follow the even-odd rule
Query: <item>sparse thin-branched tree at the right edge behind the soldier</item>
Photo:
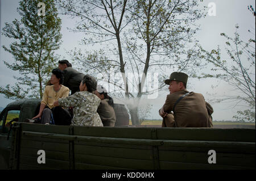
[[[250, 8], [254, 11], [252, 6]], [[255, 16], [255, 11], [253, 14]], [[238, 121], [255, 122], [255, 34], [253, 39], [245, 42], [241, 40], [238, 28], [237, 25], [233, 38], [221, 33], [226, 39], [225, 50], [229, 56], [228, 60], [222, 58], [220, 47], [211, 52], [202, 48], [202, 58], [214, 65], [212, 70], [216, 71], [213, 74], [204, 74], [203, 77], [214, 77], [228, 82], [236, 95], [225, 95], [224, 98], [217, 99], [217, 102], [229, 100], [234, 102], [234, 106], [246, 107], [245, 110], [237, 111], [233, 118]]]

